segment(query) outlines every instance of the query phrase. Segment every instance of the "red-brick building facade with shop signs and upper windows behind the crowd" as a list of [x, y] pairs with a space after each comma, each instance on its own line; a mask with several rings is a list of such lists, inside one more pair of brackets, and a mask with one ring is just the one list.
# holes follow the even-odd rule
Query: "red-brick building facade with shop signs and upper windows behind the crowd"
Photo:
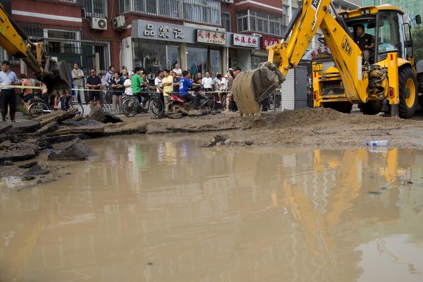
[[[285, 27], [280, 0], [20, 0], [11, 16], [49, 56], [106, 72], [137, 66], [153, 78], [181, 68], [256, 67]], [[12, 68], [32, 72], [3, 52]]]

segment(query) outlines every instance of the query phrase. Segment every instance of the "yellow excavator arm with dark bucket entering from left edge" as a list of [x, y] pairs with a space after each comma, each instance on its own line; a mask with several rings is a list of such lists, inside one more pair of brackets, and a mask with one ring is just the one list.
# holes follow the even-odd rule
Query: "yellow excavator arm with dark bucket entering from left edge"
[[[8, 0], [0, 3], [10, 7]], [[22, 59], [34, 72], [37, 80], [41, 80], [47, 86], [48, 94], [71, 93], [71, 68], [68, 63], [56, 62], [46, 57], [42, 42], [31, 42], [9, 16], [10, 11], [6, 11], [2, 4], [0, 4], [0, 46], [8, 54]]]

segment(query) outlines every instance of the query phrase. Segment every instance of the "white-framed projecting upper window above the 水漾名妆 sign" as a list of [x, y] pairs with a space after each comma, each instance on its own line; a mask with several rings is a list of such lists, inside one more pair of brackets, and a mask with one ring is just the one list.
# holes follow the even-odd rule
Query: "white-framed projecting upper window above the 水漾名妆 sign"
[[282, 35], [283, 18], [262, 11], [247, 10], [237, 13], [238, 32], [262, 32]]

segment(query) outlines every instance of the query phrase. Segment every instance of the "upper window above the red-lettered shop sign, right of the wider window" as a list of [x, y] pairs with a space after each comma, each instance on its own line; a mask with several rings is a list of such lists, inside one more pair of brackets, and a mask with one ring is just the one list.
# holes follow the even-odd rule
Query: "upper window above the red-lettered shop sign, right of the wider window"
[[183, 0], [183, 18], [195, 23], [220, 26], [220, 4], [215, 0]]

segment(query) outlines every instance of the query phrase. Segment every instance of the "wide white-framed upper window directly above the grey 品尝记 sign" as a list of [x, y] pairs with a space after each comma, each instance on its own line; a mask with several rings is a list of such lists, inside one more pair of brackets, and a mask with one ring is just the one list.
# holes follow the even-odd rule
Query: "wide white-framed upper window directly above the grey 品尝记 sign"
[[119, 0], [121, 14], [136, 12], [166, 18], [180, 18], [181, 0]]

